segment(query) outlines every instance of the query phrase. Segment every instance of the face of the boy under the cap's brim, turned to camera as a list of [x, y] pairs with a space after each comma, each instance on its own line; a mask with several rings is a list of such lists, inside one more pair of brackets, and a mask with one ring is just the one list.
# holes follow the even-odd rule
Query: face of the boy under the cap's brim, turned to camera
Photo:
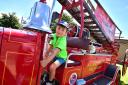
[[63, 37], [63, 36], [66, 35], [66, 33], [67, 33], [67, 29], [65, 27], [57, 25], [57, 27], [56, 27], [56, 35], [58, 37]]

